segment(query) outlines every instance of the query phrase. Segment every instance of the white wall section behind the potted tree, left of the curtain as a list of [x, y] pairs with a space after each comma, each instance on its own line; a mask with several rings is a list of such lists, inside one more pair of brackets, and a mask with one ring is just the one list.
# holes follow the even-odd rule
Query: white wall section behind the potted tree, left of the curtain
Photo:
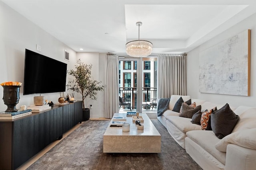
[[[105, 61], [106, 54], [104, 53], [77, 53], [77, 59], [80, 59], [85, 64], [92, 64], [92, 79], [102, 81], [101, 85], [105, 84]], [[81, 94], [76, 94], [76, 100], [82, 100]], [[105, 117], [105, 92], [98, 92], [96, 95], [97, 100], [86, 98], [85, 107], [90, 108], [90, 118]]]

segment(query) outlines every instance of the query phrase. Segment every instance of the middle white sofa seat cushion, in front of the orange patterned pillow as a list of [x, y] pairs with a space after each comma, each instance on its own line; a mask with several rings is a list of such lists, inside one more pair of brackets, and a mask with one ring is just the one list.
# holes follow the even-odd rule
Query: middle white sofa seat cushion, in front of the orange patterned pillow
[[186, 117], [179, 116], [166, 116], [166, 121], [170, 121], [173, 125], [175, 125], [180, 131], [186, 133], [192, 130], [201, 130], [200, 125], [190, 123], [191, 119]]

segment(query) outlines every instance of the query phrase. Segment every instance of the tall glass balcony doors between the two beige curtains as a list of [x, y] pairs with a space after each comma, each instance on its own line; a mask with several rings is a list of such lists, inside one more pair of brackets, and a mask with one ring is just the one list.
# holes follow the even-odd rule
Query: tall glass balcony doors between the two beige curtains
[[156, 58], [119, 58], [120, 113], [156, 111], [156, 65]]

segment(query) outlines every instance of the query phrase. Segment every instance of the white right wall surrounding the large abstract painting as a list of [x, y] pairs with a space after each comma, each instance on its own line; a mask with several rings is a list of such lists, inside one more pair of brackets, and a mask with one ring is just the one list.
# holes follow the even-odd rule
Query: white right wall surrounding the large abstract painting
[[[206, 94], [199, 92], [199, 54], [221, 41], [230, 38], [242, 31], [251, 29], [251, 76], [250, 76], [250, 96], [233, 96], [221, 94]], [[230, 29], [212, 38], [188, 53], [187, 57], [187, 94], [192, 98], [208, 100], [216, 104], [230, 104], [230, 106], [256, 106], [256, 14], [246, 18]], [[239, 61], [238, 61], [239, 62]]]

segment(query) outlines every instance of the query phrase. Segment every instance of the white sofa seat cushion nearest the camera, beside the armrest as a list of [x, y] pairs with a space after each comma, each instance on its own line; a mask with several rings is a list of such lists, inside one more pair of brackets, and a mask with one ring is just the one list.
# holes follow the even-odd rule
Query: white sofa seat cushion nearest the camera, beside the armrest
[[220, 139], [218, 139], [212, 131], [189, 131], [186, 135], [222, 164], [226, 163], [226, 152], [220, 152], [215, 148], [215, 144], [218, 143]]

